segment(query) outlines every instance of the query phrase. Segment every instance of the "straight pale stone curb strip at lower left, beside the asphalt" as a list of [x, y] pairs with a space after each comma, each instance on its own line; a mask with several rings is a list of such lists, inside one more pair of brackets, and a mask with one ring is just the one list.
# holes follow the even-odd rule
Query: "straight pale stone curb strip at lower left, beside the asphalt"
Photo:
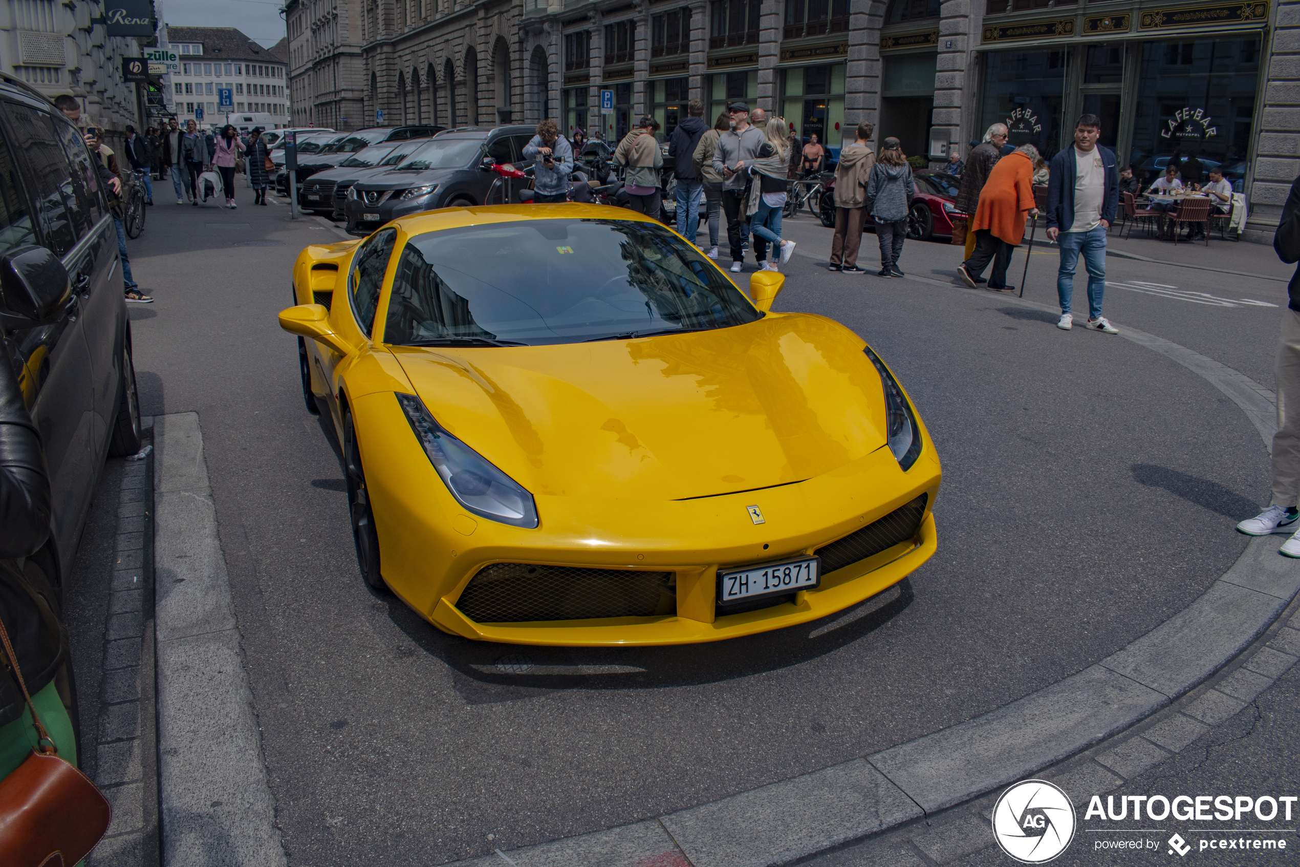
[[153, 430], [161, 861], [281, 866], [199, 416], [156, 416]]

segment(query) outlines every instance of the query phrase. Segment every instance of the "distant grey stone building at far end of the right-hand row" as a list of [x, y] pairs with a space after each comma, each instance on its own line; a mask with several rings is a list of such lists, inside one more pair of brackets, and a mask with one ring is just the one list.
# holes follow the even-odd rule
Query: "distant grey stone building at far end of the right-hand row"
[[355, 130], [372, 126], [364, 105], [363, 0], [289, 0], [292, 125]]

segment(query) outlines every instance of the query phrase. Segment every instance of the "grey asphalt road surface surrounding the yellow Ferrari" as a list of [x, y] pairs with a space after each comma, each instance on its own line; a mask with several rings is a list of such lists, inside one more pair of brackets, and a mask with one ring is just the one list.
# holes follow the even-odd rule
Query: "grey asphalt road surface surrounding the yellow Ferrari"
[[[292, 864], [508, 850], [983, 714], [1199, 597], [1244, 546], [1232, 524], [1268, 498], [1254, 429], [1184, 368], [1118, 337], [1060, 331], [1054, 316], [992, 292], [828, 273], [829, 230], [803, 221], [789, 237], [815, 256], [786, 266], [777, 308], [845, 322], [911, 394], [946, 471], [936, 556], [857, 610], [725, 643], [569, 651], [452, 638], [358, 575], [335, 446], [303, 408], [295, 344], [276, 324], [298, 250], [334, 238], [251, 198], [239, 188], [231, 212], [159, 196], [131, 242], [157, 303], [131, 317], [143, 412], [200, 416]], [[958, 259], [909, 243], [901, 264], [950, 281]], [[1231, 285], [1284, 304], [1275, 279], [1242, 289], [1247, 278], [1217, 272], [1109, 266], [1114, 281], [1158, 273], [1180, 290]], [[1050, 299], [1050, 272], [1035, 256], [1027, 298]], [[1106, 304], [1117, 325], [1265, 383], [1278, 313], [1141, 291]]]

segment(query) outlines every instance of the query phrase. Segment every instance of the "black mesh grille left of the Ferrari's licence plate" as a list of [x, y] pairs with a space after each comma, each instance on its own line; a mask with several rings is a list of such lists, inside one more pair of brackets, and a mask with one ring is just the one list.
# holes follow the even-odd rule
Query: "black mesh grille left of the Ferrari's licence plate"
[[495, 563], [478, 571], [456, 607], [474, 623], [649, 617], [676, 612], [672, 576]]

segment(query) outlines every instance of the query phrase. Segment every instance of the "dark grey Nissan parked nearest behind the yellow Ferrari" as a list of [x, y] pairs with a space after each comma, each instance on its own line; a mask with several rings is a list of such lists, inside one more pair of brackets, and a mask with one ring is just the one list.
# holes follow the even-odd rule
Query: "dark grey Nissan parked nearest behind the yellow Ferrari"
[[369, 234], [390, 220], [452, 205], [482, 204], [495, 177], [495, 162], [530, 165], [524, 146], [533, 126], [462, 126], [439, 133], [395, 169], [358, 181], [348, 190], [347, 230]]

